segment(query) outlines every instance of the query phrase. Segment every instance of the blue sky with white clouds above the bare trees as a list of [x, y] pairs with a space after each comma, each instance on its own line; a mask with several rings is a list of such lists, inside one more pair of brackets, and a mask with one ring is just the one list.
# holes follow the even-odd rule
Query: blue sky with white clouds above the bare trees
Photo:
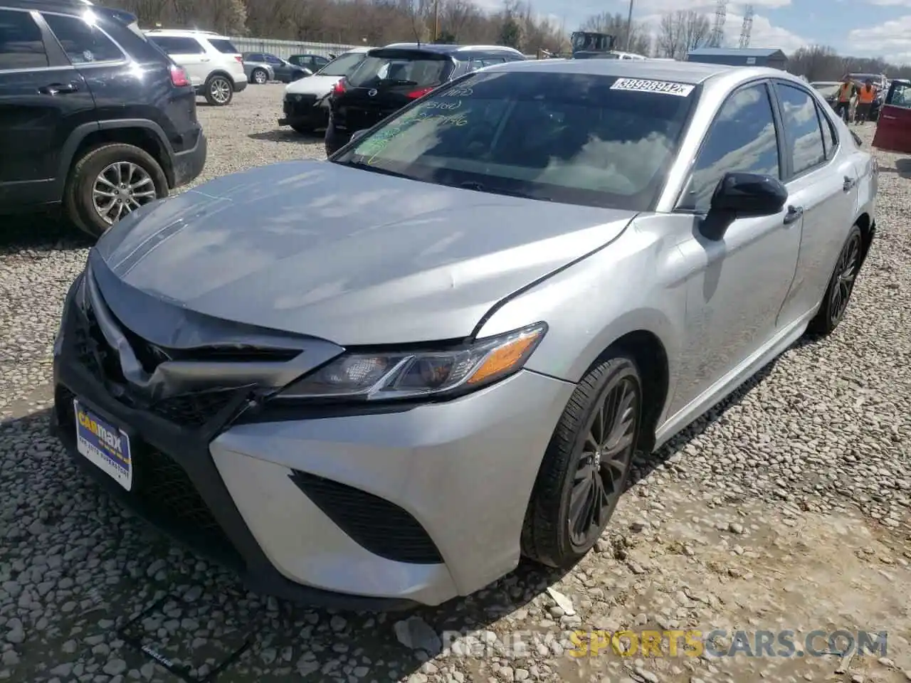
[[[535, 11], [576, 30], [589, 15], [626, 15], [629, 0], [531, 0]], [[502, 0], [479, 0], [499, 9]], [[778, 47], [786, 53], [800, 46], [834, 47], [842, 55], [881, 56], [896, 65], [911, 64], [911, 0], [753, 0], [751, 47]], [[746, 5], [730, 2], [724, 32], [727, 45], [740, 40]], [[694, 9], [714, 19], [714, 0], [633, 0], [633, 20], [654, 30], [660, 15]]]

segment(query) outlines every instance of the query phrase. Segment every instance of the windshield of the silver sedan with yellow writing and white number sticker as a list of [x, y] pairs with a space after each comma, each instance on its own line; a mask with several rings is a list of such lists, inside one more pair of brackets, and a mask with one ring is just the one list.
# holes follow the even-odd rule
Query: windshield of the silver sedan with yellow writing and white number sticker
[[333, 161], [440, 185], [646, 210], [694, 90], [613, 76], [478, 72], [390, 117]]

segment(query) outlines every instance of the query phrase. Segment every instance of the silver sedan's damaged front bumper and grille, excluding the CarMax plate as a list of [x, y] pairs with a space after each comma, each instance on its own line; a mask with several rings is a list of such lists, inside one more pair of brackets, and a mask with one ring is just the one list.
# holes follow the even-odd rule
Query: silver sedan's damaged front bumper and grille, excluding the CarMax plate
[[[54, 430], [111, 494], [257, 593], [438, 605], [514, 569], [574, 385], [520, 371], [440, 403], [268, 400], [342, 352], [159, 301], [93, 250], [55, 342]], [[80, 453], [75, 405], [128, 437], [129, 490]]]

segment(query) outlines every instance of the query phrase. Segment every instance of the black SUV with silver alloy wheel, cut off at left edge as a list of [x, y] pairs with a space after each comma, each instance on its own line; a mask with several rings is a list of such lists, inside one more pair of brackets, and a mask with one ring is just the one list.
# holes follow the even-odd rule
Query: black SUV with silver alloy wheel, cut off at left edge
[[186, 72], [129, 13], [0, 0], [0, 213], [63, 205], [93, 237], [200, 175]]

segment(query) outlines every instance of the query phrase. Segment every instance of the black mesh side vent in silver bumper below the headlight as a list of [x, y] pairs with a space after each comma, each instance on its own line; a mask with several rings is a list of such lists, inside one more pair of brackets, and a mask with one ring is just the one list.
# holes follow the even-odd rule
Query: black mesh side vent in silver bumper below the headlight
[[425, 528], [398, 505], [316, 474], [295, 470], [291, 479], [345, 534], [374, 555], [415, 565], [443, 562]]

